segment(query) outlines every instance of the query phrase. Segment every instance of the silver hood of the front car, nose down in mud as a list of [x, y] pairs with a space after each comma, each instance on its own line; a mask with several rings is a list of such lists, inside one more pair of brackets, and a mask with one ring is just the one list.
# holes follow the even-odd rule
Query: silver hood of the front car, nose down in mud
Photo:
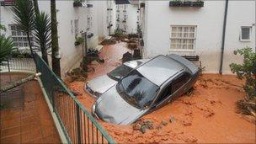
[[117, 93], [115, 86], [95, 102], [95, 112], [101, 120], [119, 125], [128, 125], [136, 121], [147, 110], [136, 109], [131, 104], [128, 104]]

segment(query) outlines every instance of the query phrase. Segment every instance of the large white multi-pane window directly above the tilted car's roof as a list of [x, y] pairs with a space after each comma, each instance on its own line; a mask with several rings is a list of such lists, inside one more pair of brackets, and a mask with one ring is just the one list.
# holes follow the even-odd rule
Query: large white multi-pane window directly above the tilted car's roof
[[171, 26], [171, 49], [194, 50], [196, 26]]

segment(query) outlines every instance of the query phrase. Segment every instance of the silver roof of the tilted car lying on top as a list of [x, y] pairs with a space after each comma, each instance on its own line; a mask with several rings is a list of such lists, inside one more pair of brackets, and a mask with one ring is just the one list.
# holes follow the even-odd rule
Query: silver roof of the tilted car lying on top
[[169, 56], [160, 55], [153, 58], [151, 61], [147, 61], [147, 63], [143, 64], [141, 67], [138, 67], [137, 71], [152, 83], [160, 86], [167, 81], [169, 77], [173, 77], [176, 73], [185, 68], [186, 67], [179, 61]]

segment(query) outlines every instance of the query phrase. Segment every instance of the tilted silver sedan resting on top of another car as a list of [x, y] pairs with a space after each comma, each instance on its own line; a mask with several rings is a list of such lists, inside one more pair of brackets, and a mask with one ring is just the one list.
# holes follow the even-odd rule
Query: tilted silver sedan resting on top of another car
[[157, 56], [136, 67], [97, 99], [92, 113], [106, 122], [128, 125], [187, 92], [198, 67], [178, 55]]

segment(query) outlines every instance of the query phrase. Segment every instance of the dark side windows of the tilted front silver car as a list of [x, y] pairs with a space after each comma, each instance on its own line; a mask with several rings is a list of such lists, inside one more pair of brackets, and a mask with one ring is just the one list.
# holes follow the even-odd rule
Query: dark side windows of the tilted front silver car
[[180, 87], [184, 85], [189, 80], [190, 74], [185, 72], [183, 75], [179, 76], [177, 79], [173, 81], [173, 83], [168, 84], [163, 93], [157, 99], [156, 104], [161, 103], [164, 99], [166, 99], [169, 95], [174, 93]]

